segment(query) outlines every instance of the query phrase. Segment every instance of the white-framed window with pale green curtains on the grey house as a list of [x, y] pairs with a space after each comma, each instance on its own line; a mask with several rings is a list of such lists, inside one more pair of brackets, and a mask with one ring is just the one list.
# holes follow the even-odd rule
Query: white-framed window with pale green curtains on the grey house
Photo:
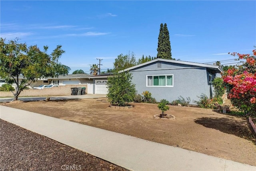
[[173, 87], [173, 74], [146, 76], [147, 87]]

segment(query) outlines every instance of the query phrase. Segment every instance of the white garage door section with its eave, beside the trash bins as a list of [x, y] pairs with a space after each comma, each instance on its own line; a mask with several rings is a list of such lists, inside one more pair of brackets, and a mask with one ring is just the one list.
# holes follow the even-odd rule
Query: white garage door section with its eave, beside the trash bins
[[108, 82], [108, 77], [111, 76], [112, 73], [106, 73], [96, 76], [91, 76], [90, 78], [93, 80], [93, 94], [107, 94], [108, 88], [106, 83]]

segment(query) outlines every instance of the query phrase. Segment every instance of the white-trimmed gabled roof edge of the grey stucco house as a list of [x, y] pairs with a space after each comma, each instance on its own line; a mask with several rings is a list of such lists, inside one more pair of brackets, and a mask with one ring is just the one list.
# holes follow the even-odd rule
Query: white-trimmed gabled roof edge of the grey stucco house
[[122, 70], [120, 72], [129, 71], [129, 70], [132, 70], [134, 68], [138, 68], [138, 67], [141, 67], [141, 66], [144, 66], [144, 65], [148, 65], [148, 64], [151, 64], [151, 63], [157, 62], [157, 61], [172, 62], [172, 63], [176, 63], [176, 64], [185, 64], [185, 65], [194, 65], [194, 66], [201, 66], [201, 67], [206, 67], [206, 68], [215, 68], [215, 69], [218, 69], [220, 72], [224, 72], [220, 68], [220, 66], [216, 66], [216, 65], [202, 64], [202, 63], [196, 63], [196, 62], [178, 61], [178, 60], [167, 60], [167, 59], [161, 59], [161, 58], [157, 58], [155, 60], [151, 60], [151, 61], [139, 64], [139, 65], [136, 65], [136, 66], [132, 66], [130, 68], [126, 68], [125, 70]]

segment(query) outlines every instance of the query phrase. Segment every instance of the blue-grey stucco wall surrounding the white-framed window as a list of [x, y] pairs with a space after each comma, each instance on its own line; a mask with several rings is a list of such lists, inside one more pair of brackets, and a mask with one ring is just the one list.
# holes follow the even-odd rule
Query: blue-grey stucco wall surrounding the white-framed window
[[[182, 68], [180, 65], [173, 66], [162, 64], [162, 68], [159, 69], [156, 68], [156, 65], [153, 63], [152, 66], [136, 68], [136, 70], [130, 70], [130, 72], [133, 76], [132, 82], [136, 84], [138, 93], [141, 94], [146, 90], [150, 91], [152, 97], [156, 98], [156, 101], [167, 99], [169, 102], [172, 102], [181, 95], [185, 99], [186, 97], [190, 97], [190, 104], [194, 104], [193, 100], [198, 100], [197, 96], [200, 96], [202, 93], [210, 97], [211, 84], [208, 79], [209, 72], [207, 72], [206, 68], [187, 68], [191, 66], [185, 65], [183, 65], [183, 67], [186, 67], [186, 69], [175, 69]], [[166, 68], [171, 69], [166, 70]], [[173, 87], [147, 87], [146, 76], [158, 74], [173, 74]]]

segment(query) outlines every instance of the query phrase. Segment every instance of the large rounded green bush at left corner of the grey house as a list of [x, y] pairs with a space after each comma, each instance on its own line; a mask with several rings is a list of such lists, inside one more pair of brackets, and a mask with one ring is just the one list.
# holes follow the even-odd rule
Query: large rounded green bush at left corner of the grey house
[[111, 105], [126, 106], [134, 100], [137, 93], [129, 72], [116, 73], [108, 77], [108, 101]]

